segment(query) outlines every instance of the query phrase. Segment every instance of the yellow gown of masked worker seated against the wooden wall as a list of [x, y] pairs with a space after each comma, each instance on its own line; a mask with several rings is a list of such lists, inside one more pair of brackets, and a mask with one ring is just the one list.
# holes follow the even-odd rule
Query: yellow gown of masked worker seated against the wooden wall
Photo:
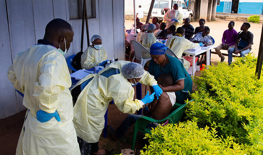
[[107, 52], [105, 49], [101, 47], [100, 50], [96, 50], [91, 45], [81, 55], [81, 67], [82, 69], [90, 69], [99, 66], [99, 64], [105, 60], [107, 60]]

